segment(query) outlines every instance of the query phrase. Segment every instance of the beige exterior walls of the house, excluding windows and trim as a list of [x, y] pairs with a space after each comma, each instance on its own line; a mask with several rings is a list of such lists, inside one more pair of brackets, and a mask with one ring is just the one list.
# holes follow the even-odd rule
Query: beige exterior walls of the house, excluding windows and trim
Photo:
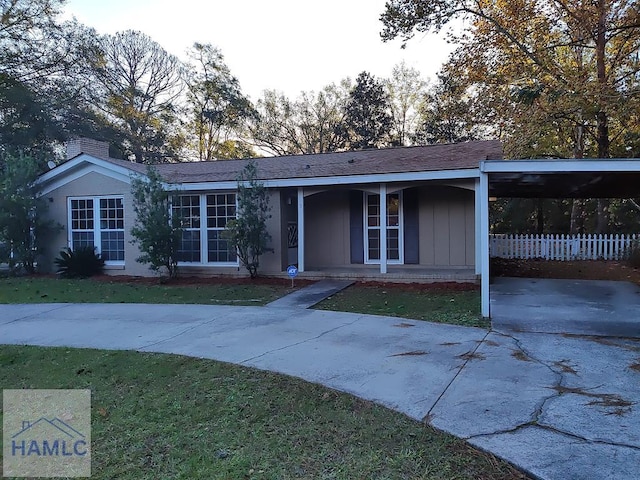
[[[183, 190], [184, 193], [190, 193]], [[203, 193], [203, 192], [193, 192]], [[53, 259], [68, 245], [67, 219], [69, 197], [120, 195], [125, 208], [125, 266], [109, 267], [107, 273], [124, 275], [155, 275], [148, 266], [135, 261], [140, 255], [131, 243], [134, 224], [133, 199], [127, 182], [89, 172], [45, 195], [49, 216], [63, 228], [47, 239], [44, 271], [54, 271]], [[289, 262], [286, 251], [286, 195], [278, 190], [269, 192], [271, 217], [267, 227], [271, 234], [272, 252], [261, 258], [260, 273], [279, 274]], [[291, 206], [290, 209], [295, 208]], [[348, 189], [331, 189], [305, 197], [305, 264], [307, 270], [321, 267], [351, 265], [350, 204]], [[475, 209], [473, 190], [423, 184], [419, 187], [419, 256], [420, 265], [471, 267], [475, 261]], [[185, 264], [183, 275], [246, 275], [241, 266]]]

